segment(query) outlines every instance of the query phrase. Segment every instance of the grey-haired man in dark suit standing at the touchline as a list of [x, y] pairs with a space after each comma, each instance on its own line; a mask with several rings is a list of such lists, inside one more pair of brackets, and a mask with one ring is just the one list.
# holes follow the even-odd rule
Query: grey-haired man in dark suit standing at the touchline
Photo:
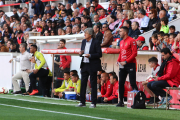
[[93, 29], [87, 28], [84, 31], [85, 39], [82, 41], [81, 51], [79, 55], [82, 58], [81, 61], [81, 91], [80, 91], [80, 103], [77, 107], [85, 107], [85, 94], [87, 81], [90, 76], [91, 83], [91, 105], [90, 108], [96, 107], [97, 101], [97, 71], [102, 70], [101, 60], [102, 51], [101, 46], [96, 39], [93, 38]]

